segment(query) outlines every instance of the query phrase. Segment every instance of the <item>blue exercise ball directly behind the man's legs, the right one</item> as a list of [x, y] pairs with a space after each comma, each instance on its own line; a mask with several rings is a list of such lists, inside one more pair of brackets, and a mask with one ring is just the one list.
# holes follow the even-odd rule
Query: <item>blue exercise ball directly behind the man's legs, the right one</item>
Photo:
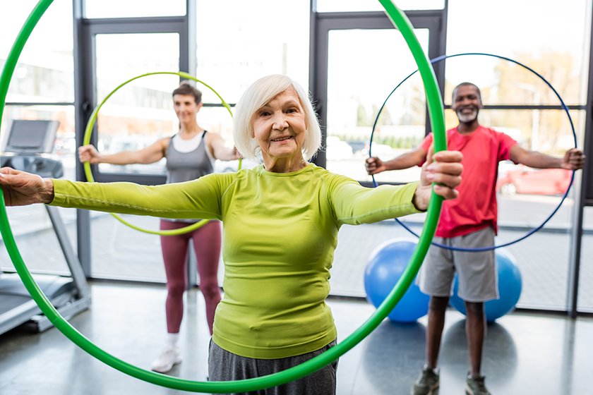
[[[484, 303], [486, 321], [488, 322], [493, 322], [497, 318], [515, 310], [515, 305], [519, 301], [521, 288], [523, 286], [521, 272], [519, 271], [515, 257], [504, 248], [497, 248], [495, 250], [495, 255], [496, 271], [498, 272], [499, 298]], [[457, 278], [457, 275], [455, 275], [455, 285], [453, 286], [451, 304], [465, 315], [465, 303], [462, 298], [457, 296], [457, 288], [459, 288], [459, 279]]]

